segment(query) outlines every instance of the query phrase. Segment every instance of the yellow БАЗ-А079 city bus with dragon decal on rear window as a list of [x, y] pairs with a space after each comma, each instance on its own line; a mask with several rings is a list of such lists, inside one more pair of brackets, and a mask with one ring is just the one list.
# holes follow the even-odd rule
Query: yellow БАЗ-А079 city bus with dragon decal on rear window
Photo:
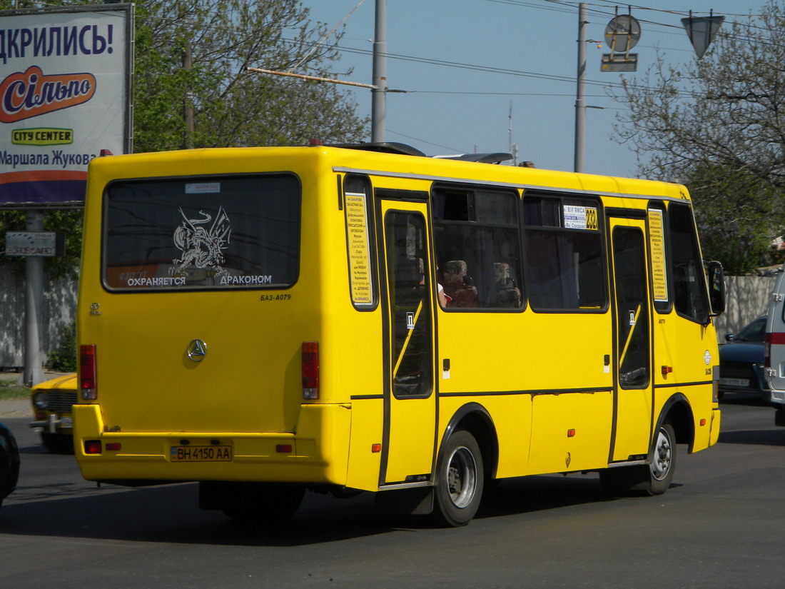
[[[503, 157], [503, 156], [502, 156]], [[375, 492], [465, 525], [487, 481], [665, 492], [717, 441], [721, 269], [684, 186], [399, 144], [89, 166], [75, 454], [286, 518]], [[490, 162], [490, 163], [489, 163]]]

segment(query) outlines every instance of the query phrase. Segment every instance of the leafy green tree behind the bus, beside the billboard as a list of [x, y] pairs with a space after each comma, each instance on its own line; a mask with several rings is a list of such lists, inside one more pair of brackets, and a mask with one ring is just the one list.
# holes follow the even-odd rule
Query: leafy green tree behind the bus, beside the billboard
[[[367, 119], [357, 117], [340, 86], [247, 71], [297, 66], [327, 75], [338, 53], [317, 43], [327, 27], [313, 26], [308, 16], [300, 0], [138, 2], [135, 151], [365, 137]], [[186, 105], [194, 112], [192, 134]]]

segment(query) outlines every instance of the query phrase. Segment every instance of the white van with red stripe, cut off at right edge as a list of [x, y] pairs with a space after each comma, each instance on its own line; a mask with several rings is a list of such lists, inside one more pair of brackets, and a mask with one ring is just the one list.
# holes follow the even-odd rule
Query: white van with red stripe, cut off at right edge
[[785, 426], [785, 273], [777, 274], [766, 320], [764, 374], [776, 408], [774, 424]]

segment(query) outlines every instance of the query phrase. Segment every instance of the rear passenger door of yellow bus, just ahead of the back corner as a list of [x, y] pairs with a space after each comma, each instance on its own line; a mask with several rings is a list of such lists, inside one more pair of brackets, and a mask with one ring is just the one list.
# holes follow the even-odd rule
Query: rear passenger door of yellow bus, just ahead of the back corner
[[385, 418], [380, 485], [430, 480], [436, 429], [425, 203], [381, 200]]

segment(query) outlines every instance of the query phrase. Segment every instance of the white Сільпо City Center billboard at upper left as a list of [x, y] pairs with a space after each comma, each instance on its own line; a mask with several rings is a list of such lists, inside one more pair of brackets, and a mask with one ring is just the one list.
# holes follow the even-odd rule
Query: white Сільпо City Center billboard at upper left
[[130, 152], [132, 46], [131, 4], [0, 11], [0, 207], [83, 204]]

